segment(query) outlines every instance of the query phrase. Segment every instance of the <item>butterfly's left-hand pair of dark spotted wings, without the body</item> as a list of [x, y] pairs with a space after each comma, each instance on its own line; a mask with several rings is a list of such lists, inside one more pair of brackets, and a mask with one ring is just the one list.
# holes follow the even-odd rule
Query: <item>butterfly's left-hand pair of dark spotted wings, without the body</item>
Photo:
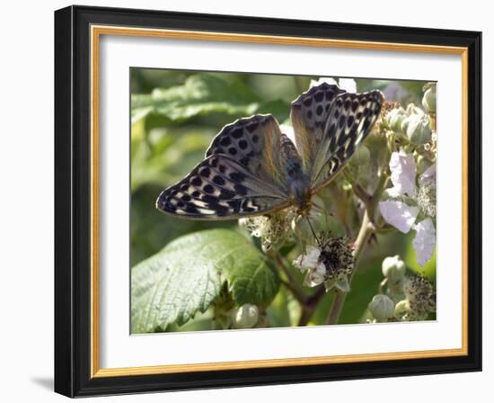
[[188, 219], [238, 219], [287, 207], [280, 138], [271, 115], [226, 125], [206, 159], [165, 189], [156, 207]]

